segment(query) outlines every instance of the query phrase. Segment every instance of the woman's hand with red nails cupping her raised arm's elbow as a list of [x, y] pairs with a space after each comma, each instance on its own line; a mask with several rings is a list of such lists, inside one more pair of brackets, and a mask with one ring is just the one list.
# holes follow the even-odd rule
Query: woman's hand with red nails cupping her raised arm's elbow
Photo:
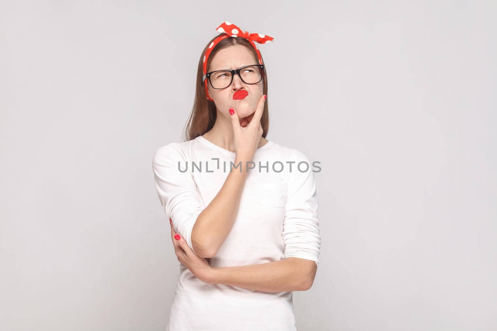
[[[188, 270], [190, 270], [195, 277], [207, 284], [210, 284], [210, 275], [212, 273], [211, 265], [209, 265], [206, 259], [196, 255], [195, 252], [193, 252], [193, 250], [188, 246], [184, 238], [174, 231], [172, 220], [170, 218], [169, 223], [171, 225], [172, 245], [174, 245], [174, 252], [178, 257], [179, 263], [188, 268]], [[179, 240], [176, 238], [179, 238]]]

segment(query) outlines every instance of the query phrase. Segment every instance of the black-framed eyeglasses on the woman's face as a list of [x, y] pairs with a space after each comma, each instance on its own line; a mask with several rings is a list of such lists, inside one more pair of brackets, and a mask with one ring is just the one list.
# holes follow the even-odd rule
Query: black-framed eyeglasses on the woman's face
[[246, 84], [257, 84], [264, 75], [264, 65], [250, 65], [234, 70], [224, 69], [207, 72], [202, 77], [202, 82], [209, 78], [212, 88], [220, 90], [230, 86], [236, 74]]

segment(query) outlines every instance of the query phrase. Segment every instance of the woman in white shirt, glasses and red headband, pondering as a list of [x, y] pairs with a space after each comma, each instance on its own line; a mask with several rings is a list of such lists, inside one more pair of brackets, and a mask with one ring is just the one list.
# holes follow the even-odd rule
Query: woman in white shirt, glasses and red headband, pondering
[[186, 141], [153, 158], [180, 262], [167, 330], [294, 331], [292, 291], [312, 286], [319, 263], [314, 174], [302, 152], [265, 138], [267, 75], [253, 41], [273, 38], [230, 22], [217, 30]]

